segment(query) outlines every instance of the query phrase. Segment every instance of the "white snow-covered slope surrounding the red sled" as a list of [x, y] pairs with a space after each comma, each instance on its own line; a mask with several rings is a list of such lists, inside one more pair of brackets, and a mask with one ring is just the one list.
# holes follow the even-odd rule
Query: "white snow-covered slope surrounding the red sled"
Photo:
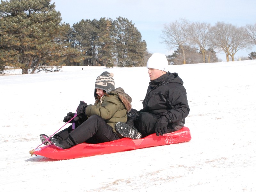
[[103, 71], [142, 108], [146, 67], [0, 76], [1, 191], [256, 191], [256, 60], [169, 66], [187, 89], [189, 142], [71, 160], [30, 156], [80, 100], [94, 103]]

